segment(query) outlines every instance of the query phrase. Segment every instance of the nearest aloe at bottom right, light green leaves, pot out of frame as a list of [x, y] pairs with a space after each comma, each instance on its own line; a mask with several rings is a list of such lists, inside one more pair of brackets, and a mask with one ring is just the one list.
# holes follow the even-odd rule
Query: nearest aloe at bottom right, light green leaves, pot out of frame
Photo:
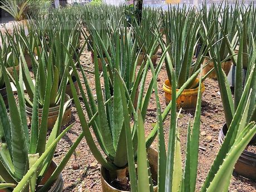
[[[175, 85], [175, 72], [173, 73], [173, 85]], [[201, 80], [199, 83], [201, 86]], [[172, 87], [173, 95], [176, 94], [176, 87]], [[155, 94], [157, 97], [157, 93]], [[196, 112], [194, 117], [193, 126], [190, 122], [188, 125], [188, 136], [186, 142], [186, 155], [183, 167], [181, 159], [181, 141], [179, 139], [179, 130], [177, 127], [177, 120], [179, 117], [176, 115], [176, 99], [174, 97], [171, 104], [171, 117], [170, 117], [170, 132], [168, 140], [168, 151], [166, 153], [165, 139], [163, 127], [159, 126], [159, 159], [158, 159], [158, 188], [154, 189], [152, 183], [152, 176], [149, 171], [149, 160], [146, 155], [146, 142], [144, 124], [141, 120], [140, 113], [138, 114], [139, 127], [138, 127], [138, 152], [137, 152], [137, 175], [135, 170], [135, 161], [129, 158], [129, 173], [132, 191], [195, 191], [196, 178], [198, 171], [198, 150], [199, 150], [199, 136], [200, 136], [200, 112], [201, 112], [201, 91], [198, 91], [198, 101], [196, 105]], [[161, 111], [160, 106], [157, 106], [157, 111]], [[228, 186], [232, 178], [234, 165], [242, 153], [243, 149], [247, 146], [250, 139], [256, 133], [255, 122], [251, 122], [243, 127], [243, 122], [246, 121], [248, 109], [243, 110], [242, 105], [239, 106], [237, 116], [240, 117], [238, 121], [230, 126], [227, 137], [223, 145], [220, 147], [215, 161], [211, 166], [208, 176], [205, 178], [204, 184], [201, 187], [202, 192], [210, 191], [228, 191]], [[160, 113], [161, 114], [161, 113]], [[158, 119], [158, 124], [163, 124], [161, 119]], [[132, 132], [126, 129], [127, 140], [127, 155], [133, 156], [134, 147], [131, 140]]]

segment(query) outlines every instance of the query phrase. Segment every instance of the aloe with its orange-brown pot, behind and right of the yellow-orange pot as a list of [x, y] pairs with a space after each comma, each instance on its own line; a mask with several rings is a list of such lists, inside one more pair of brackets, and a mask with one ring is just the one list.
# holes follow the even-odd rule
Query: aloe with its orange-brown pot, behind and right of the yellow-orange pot
[[[221, 2], [219, 5], [215, 3], [211, 4], [208, 8], [207, 4], [203, 4], [203, 8], [201, 11], [203, 12], [203, 23], [204, 27], [200, 30], [200, 40], [204, 41], [205, 38], [213, 39], [215, 43], [218, 43], [220, 46], [218, 53], [221, 59], [221, 65], [228, 75], [230, 71], [230, 67], [232, 65], [232, 61], [229, 54], [229, 49], [235, 49], [236, 41], [237, 41], [237, 21], [239, 19], [239, 4], [236, 2], [235, 6], [230, 6], [227, 2], [223, 4]], [[233, 45], [228, 45], [223, 37], [223, 30], [225, 34], [228, 36], [230, 42]], [[229, 47], [231, 46], [231, 47]], [[211, 60], [209, 52], [206, 53], [204, 63], [208, 62], [208, 66], [206, 66], [203, 70], [203, 75], [208, 73], [212, 68], [214, 68], [214, 63]], [[209, 78], [217, 78], [216, 72], [212, 71]]]

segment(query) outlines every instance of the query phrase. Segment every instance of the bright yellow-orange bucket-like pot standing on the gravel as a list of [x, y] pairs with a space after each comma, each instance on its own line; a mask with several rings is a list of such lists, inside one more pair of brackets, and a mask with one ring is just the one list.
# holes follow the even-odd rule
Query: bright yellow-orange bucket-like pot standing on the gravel
[[[199, 79], [197, 78], [193, 85], [199, 82]], [[193, 87], [193, 85], [191, 87]], [[169, 80], [166, 80], [164, 83], [164, 92], [165, 92], [165, 104], [168, 105], [171, 101], [171, 85]], [[201, 92], [203, 93], [205, 90], [204, 83], [202, 83], [201, 86]], [[176, 91], [179, 91], [177, 89]], [[198, 99], [198, 87], [197, 88], [190, 88], [186, 89], [181, 93], [181, 95], [176, 100], [177, 108], [180, 109], [195, 109], [196, 107], [196, 101]]]

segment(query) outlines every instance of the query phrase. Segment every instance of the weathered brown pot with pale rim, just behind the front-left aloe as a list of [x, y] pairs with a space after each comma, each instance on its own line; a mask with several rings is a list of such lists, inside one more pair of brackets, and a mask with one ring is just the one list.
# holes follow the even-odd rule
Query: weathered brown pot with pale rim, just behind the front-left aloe
[[[70, 100], [70, 96], [66, 94], [65, 102], [67, 102], [68, 100]], [[61, 125], [66, 125], [66, 124], [68, 124], [68, 122], [71, 121], [71, 108], [72, 108], [72, 103], [70, 102], [70, 105], [68, 105], [66, 111], [64, 112]], [[55, 122], [56, 122], [57, 117], [58, 117], [59, 110], [60, 110], [59, 105], [49, 108], [48, 122], [47, 122], [48, 129], [52, 129], [53, 126], [55, 125]], [[29, 120], [31, 121], [32, 108], [26, 106], [26, 112], [27, 112], [27, 116], [28, 116]], [[43, 109], [38, 109], [39, 122], [41, 122], [42, 112], [43, 112]]]

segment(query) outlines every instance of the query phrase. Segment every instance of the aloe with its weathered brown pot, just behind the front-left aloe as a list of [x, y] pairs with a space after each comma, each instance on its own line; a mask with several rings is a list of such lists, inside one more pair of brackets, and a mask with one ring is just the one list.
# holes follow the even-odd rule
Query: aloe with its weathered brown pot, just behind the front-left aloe
[[[66, 52], [65, 46], [63, 46], [63, 51]], [[66, 48], [67, 49], [67, 48]], [[21, 47], [20, 47], [21, 50]], [[29, 52], [32, 52], [30, 50]], [[32, 56], [32, 55], [31, 55]], [[26, 100], [26, 112], [29, 119], [32, 119], [32, 110], [33, 110], [33, 103], [34, 103], [34, 94], [35, 94], [35, 80], [31, 77], [28, 67], [26, 65], [26, 61], [24, 60], [24, 56], [21, 52], [22, 58], [22, 77], [24, 80], [24, 85], [26, 86], [26, 91], [28, 96], [25, 96]], [[40, 54], [40, 58], [38, 61], [33, 58], [32, 59], [33, 66], [37, 66], [37, 68], [33, 68], [34, 76], [36, 78], [40, 78], [40, 82], [38, 82], [38, 90], [40, 91], [40, 96], [38, 99], [38, 116], [41, 119], [43, 115], [43, 106], [45, 106], [45, 97], [46, 91], [50, 89], [50, 112], [48, 114], [48, 129], [52, 129], [55, 125], [55, 122], [58, 117], [58, 111], [60, 110], [60, 102], [62, 98], [62, 88], [63, 86], [66, 87], [67, 83], [67, 73], [69, 72], [69, 58], [66, 58], [65, 63], [65, 71], [63, 71], [60, 76], [60, 70], [56, 63], [58, 63], [58, 57], [54, 57], [53, 53], [53, 44], [50, 50], [50, 53], [47, 53], [45, 47], [42, 47], [42, 53]], [[13, 81], [15, 83], [15, 81]], [[48, 86], [47, 82], [50, 82], [50, 87]], [[16, 84], [16, 83], [15, 83]], [[65, 88], [66, 90], [66, 88]], [[65, 103], [70, 100], [70, 96], [65, 94]], [[69, 103], [68, 107], [63, 115], [62, 125], [67, 124], [71, 120], [71, 108], [72, 104]]]

